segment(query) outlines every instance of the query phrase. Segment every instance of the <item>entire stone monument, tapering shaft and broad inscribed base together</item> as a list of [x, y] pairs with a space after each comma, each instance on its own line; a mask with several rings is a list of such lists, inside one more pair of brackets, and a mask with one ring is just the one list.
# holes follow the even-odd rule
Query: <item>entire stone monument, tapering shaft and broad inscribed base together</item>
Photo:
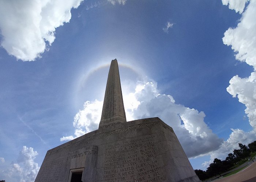
[[111, 62], [98, 130], [47, 151], [36, 182], [200, 181], [172, 127], [126, 122], [117, 60]]

